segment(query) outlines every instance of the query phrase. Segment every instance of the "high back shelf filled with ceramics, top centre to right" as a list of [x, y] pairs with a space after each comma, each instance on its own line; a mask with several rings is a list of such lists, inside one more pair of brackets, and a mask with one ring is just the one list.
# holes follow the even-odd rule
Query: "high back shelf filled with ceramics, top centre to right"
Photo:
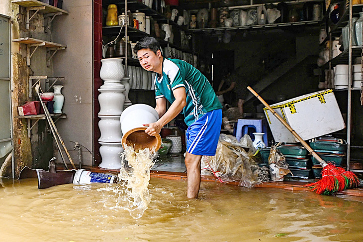
[[189, 31], [212, 34], [220, 30], [318, 25], [324, 12], [323, 2], [312, 0], [299, 3], [276, 2], [190, 10]]

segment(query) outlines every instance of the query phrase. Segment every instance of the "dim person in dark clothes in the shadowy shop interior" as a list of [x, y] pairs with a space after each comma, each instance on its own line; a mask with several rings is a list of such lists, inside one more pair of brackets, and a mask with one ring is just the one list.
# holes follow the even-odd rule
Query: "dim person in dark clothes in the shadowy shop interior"
[[[221, 91], [223, 84], [226, 84], [228, 88]], [[226, 76], [224, 76], [219, 83], [218, 91], [216, 92], [216, 95], [222, 95], [225, 93], [228, 93], [230, 91], [234, 91], [234, 94], [236, 95], [238, 102], [238, 110], [240, 114], [243, 114], [243, 104], [245, 103], [246, 96], [247, 96], [247, 86], [248, 83], [245, 82], [245, 78], [242, 75], [242, 68], [239, 67], [236, 70], [229, 72]]]

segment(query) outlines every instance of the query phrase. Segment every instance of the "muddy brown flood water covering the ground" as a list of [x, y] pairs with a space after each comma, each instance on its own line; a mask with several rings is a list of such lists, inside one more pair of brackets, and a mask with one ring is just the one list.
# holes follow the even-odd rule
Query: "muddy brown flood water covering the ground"
[[133, 219], [100, 189], [117, 184], [0, 181], [0, 241], [363, 241], [360, 198], [202, 182], [188, 200], [185, 181], [151, 178], [148, 209]]

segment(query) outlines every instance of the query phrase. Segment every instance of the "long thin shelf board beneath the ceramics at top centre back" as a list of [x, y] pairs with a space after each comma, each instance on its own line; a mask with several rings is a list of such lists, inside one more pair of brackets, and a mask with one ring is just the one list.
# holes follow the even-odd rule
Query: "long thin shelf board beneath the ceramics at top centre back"
[[290, 23], [271, 23], [271, 24], [261, 24], [261, 25], [246, 25], [246, 26], [232, 26], [232, 27], [217, 27], [217, 28], [195, 28], [189, 29], [190, 32], [203, 32], [203, 33], [211, 33], [213, 31], [220, 30], [239, 30], [239, 29], [268, 29], [268, 28], [282, 28], [282, 27], [290, 27], [290, 26], [299, 26], [299, 25], [319, 25], [321, 21], [319, 20], [311, 20], [311, 21], [301, 21], [301, 22], [290, 22]]

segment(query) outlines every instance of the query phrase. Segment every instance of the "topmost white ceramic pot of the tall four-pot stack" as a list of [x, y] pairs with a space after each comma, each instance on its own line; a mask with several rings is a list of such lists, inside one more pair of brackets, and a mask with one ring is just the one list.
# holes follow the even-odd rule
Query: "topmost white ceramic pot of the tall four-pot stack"
[[121, 79], [125, 76], [125, 70], [120, 58], [102, 59], [102, 66], [99, 77], [104, 81], [101, 89], [107, 88], [125, 88], [121, 84]]

